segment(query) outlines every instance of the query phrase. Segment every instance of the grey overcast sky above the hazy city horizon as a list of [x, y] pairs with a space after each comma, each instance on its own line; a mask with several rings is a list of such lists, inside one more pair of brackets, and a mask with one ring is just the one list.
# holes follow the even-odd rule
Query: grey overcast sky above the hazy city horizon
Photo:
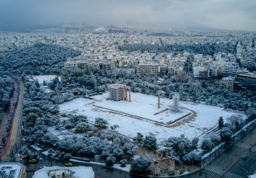
[[62, 23], [256, 31], [256, 0], [0, 0], [0, 28]]

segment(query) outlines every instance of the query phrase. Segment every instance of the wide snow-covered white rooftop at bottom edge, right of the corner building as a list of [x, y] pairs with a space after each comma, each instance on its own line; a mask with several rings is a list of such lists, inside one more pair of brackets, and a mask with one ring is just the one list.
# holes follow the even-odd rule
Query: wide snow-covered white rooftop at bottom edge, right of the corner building
[[43, 167], [33, 178], [95, 178], [92, 167]]

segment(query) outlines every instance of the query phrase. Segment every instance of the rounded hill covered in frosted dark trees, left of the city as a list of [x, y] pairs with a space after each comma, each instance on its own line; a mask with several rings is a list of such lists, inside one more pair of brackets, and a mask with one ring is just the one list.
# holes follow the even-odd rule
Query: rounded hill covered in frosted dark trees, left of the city
[[0, 60], [0, 70], [11, 73], [46, 73], [54, 64], [76, 57], [80, 51], [67, 49], [54, 44], [35, 44], [25, 49], [8, 52]]

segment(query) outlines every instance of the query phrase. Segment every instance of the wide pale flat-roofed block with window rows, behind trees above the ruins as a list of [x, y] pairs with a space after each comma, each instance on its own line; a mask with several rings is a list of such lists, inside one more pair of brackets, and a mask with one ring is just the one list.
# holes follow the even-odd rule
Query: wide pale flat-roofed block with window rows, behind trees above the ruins
[[158, 64], [138, 64], [136, 67], [137, 74], [157, 75], [160, 73], [160, 65]]

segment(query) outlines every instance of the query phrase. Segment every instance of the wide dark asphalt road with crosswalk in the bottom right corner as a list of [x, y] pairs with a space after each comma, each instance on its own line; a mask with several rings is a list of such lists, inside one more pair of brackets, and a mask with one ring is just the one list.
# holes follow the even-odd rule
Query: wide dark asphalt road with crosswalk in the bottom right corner
[[[256, 171], [256, 127], [249, 130], [244, 138], [235, 142], [233, 146], [223, 152], [214, 162], [188, 178], [244, 178]], [[247, 159], [242, 159], [247, 155]]]

